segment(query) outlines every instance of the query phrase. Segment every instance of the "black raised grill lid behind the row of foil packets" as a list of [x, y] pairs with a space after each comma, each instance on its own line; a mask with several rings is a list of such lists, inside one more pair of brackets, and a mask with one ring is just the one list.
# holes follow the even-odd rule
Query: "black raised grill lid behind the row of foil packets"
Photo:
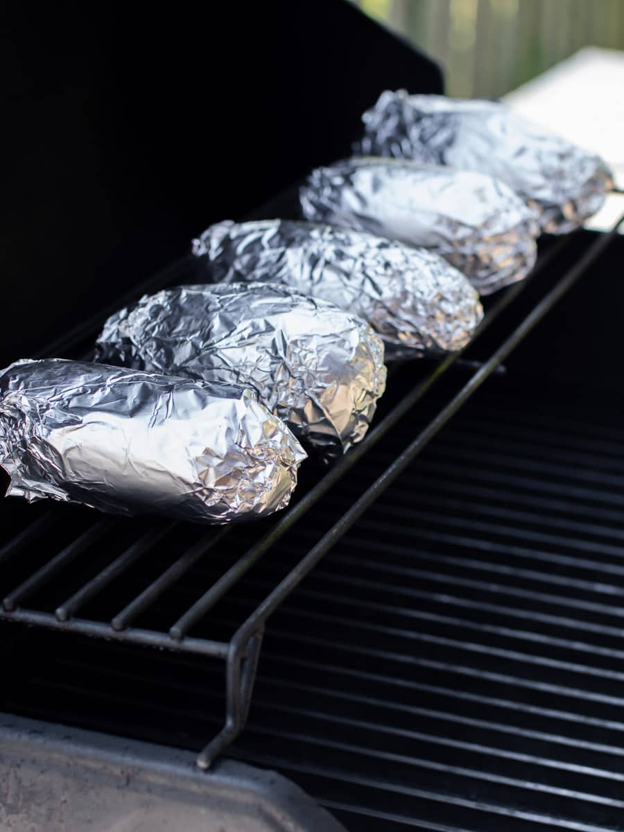
[[0, 366], [348, 155], [385, 88], [443, 90], [439, 67], [343, 0], [5, 4], [0, 77]]

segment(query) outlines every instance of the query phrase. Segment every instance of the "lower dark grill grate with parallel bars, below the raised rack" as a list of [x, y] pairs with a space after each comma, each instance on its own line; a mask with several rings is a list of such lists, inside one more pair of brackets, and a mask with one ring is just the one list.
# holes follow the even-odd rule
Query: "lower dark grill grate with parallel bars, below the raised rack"
[[[568, 404], [518, 419], [521, 404], [468, 405], [267, 631], [230, 753], [292, 776], [349, 829], [624, 825], [624, 517], [602, 480], [624, 434], [607, 455], [602, 427], [567, 426]], [[557, 465], [518, 430], [556, 431]], [[581, 522], [571, 471], [602, 517]], [[493, 477], [486, 506], [473, 483]], [[392, 525], [404, 506], [414, 522]]]

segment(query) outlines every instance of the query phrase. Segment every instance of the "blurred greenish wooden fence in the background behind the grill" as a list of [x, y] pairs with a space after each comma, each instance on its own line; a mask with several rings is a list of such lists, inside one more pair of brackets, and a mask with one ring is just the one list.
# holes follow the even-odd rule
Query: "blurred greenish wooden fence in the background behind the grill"
[[624, 49], [624, 0], [354, 2], [441, 62], [450, 96], [502, 96], [584, 46]]

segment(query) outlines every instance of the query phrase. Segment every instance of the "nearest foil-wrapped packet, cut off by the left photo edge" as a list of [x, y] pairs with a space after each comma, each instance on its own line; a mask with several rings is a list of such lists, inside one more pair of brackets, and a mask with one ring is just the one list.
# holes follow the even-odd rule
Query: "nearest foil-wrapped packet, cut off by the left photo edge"
[[250, 520], [288, 504], [303, 459], [250, 390], [62, 359], [0, 374], [0, 465], [28, 501]]

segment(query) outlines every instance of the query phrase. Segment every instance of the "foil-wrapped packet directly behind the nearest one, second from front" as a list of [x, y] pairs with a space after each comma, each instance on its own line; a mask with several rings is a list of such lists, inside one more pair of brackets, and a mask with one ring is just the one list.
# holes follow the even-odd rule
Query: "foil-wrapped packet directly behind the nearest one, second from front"
[[384, 344], [362, 319], [286, 286], [181, 286], [106, 321], [96, 357], [242, 384], [326, 456], [366, 433], [385, 388]]

